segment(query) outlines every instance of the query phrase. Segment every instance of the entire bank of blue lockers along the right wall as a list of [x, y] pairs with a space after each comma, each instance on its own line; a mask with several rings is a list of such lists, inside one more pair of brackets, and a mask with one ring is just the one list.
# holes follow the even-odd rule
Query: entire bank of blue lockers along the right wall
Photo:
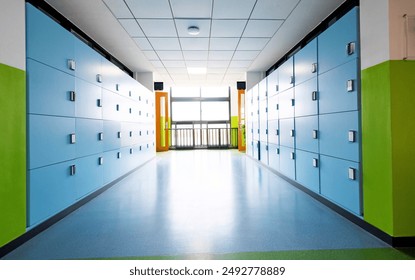
[[355, 7], [261, 81], [255, 122], [268, 132], [262, 163], [360, 216], [358, 28]]

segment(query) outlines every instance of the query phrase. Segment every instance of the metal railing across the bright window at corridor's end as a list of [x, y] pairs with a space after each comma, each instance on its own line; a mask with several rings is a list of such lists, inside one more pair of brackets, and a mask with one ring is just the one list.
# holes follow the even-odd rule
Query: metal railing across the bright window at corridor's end
[[238, 128], [172, 128], [171, 149], [235, 149]]

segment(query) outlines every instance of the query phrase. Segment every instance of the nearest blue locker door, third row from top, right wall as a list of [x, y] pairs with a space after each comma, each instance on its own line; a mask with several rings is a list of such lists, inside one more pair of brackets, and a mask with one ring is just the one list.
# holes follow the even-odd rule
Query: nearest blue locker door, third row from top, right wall
[[320, 153], [360, 161], [360, 129], [358, 112], [319, 116]]

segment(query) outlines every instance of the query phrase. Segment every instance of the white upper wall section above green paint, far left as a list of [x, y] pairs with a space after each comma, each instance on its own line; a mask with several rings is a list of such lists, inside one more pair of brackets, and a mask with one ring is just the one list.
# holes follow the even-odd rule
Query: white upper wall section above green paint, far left
[[25, 70], [24, 0], [0, 0], [0, 38], [0, 63]]

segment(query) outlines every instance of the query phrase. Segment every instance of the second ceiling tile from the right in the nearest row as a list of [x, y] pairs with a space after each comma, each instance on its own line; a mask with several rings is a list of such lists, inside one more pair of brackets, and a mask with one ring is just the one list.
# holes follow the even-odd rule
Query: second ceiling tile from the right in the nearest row
[[212, 17], [214, 19], [248, 19], [255, 2], [256, 0], [215, 0]]

